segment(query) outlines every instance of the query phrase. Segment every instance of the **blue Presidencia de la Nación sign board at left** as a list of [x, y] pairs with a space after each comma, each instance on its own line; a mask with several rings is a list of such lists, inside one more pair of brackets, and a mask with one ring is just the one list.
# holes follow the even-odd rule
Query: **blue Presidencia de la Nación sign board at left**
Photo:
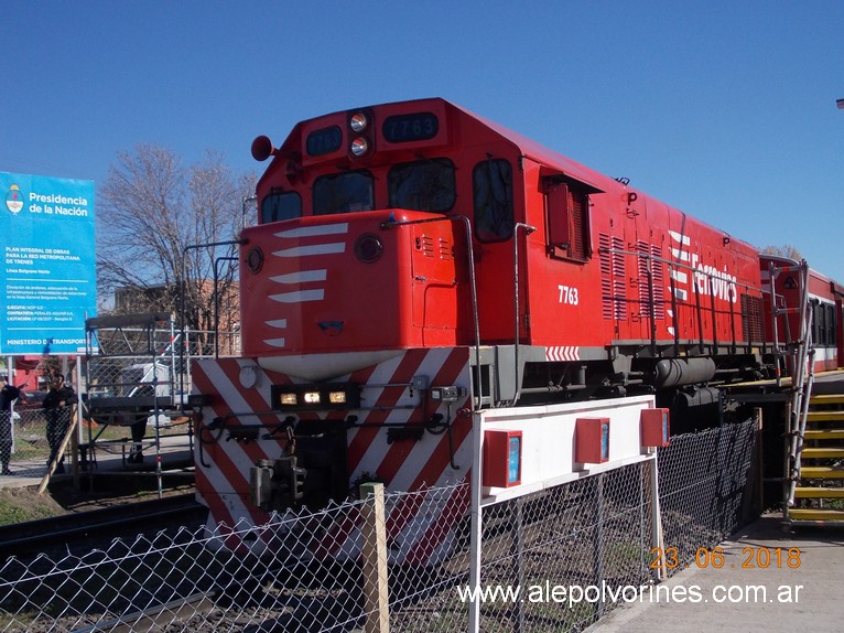
[[0, 354], [77, 354], [97, 311], [94, 182], [0, 172]]

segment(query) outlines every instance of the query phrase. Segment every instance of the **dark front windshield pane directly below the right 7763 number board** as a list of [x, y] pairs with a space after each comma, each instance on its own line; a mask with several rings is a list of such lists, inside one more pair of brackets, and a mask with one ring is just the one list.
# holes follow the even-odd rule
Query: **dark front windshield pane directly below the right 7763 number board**
[[387, 174], [393, 208], [445, 213], [454, 206], [454, 163], [446, 158], [401, 163]]

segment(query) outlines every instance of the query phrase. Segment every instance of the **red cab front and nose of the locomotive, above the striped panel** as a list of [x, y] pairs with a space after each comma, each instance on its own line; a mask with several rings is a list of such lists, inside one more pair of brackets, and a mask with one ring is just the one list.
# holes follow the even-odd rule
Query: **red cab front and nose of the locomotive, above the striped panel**
[[430, 99], [306, 121], [253, 154], [273, 162], [241, 235], [246, 354], [326, 379], [390, 350], [511, 342], [517, 146]]

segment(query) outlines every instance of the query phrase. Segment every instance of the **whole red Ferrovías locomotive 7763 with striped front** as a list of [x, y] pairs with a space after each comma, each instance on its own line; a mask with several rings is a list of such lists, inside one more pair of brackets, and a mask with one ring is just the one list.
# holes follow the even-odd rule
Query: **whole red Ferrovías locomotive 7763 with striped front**
[[[757, 249], [443, 99], [252, 154], [272, 160], [241, 235], [242, 357], [194, 367], [215, 523], [463, 481], [472, 409], [654, 394], [682, 428], [772, 353]], [[419, 513], [444, 544], [445, 508]]]

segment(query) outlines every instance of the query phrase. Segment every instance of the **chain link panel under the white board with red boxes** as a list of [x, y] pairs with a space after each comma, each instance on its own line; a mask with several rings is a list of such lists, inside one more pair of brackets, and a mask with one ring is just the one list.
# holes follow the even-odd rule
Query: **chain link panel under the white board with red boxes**
[[640, 462], [486, 509], [480, 630], [580, 631], [608, 607], [605, 587], [647, 584], [652, 465]]

